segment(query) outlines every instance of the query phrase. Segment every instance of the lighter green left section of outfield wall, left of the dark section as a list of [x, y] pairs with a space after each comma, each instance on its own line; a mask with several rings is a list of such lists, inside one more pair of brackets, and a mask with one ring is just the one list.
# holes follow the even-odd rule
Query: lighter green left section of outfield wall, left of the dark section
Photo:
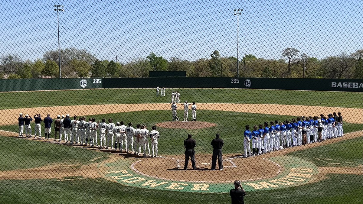
[[102, 78], [1, 79], [0, 91], [101, 89]]

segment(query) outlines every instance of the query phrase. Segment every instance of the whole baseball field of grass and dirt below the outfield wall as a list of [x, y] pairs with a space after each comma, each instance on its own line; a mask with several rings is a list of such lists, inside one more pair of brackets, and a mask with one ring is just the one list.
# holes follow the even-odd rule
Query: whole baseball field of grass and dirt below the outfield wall
[[[196, 102], [196, 121], [171, 121], [172, 91], [180, 92], [180, 102]], [[246, 203], [363, 203], [352, 196], [363, 191], [362, 98], [358, 92], [253, 89], [167, 89], [165, 97], [155, 89], [0, 93], [0, 203], [230, 203], [234, 180], [247, 191]], [[333, 112], [343, 115], [343, 137], [241, 157], [245, 125]], [[19, 113], [112, 118], [149, 130], [156, 125], [159, 157], [44, 135], [19, 138]], [[183, 119], [180, 103], [177, 113]], [[181, 171], [189, 133], [197, 143], [197, 170]], [[209, 170], [216, 133], [224, 140], [223, 171]]]

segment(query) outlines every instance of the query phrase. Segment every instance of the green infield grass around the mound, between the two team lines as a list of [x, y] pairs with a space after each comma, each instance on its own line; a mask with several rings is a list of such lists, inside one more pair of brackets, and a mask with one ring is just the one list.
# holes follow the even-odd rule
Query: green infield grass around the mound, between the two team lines
[[[182, 111], [179, 110], [178, 114], [181, 113]], [[89, 117], [95, 117], [96, 119], [113, 118], [114, 123], [116, 123], [116, 121], [124, 121], [126, 126], [127, 123], [132, 122], [135, 128], [136, 124], [140, 123], [147, 125], [148, 130], [151, 131], [151, 127], [156, 123], [170, 121], [171, 112], [169, 110], [134, 111], [126, 113], [91, 115], [87, 116], [87, 119]], [[217, 126], [197, 130], [159, 127], [159, 154], [182, 154], [184, 152], [183, 140], [187, 138], [189, 133], [193, 134], [197, 141], [197, 147], [195, 148], [196, 151], [198, 153], [209, 153], [211, 151], [211, 140], [215, 138], [215, 134], [217, 132], [220, 133], [221, 138], [225, 142], [223, 147], [224, 153], [241, 153], [243, 151], [243, 132], [245, 130], [245, 125], [249, 125], [252, 130], [253, 125], [258, 125], [260, 123], [263, 124], [264, 121], [274, 121], [275, 119], [281, 121], [284, 119], [291, 119], [291, 116], [199, 110], [197, 118], [200, 121], [216, 123]], [[0, 129], [17, 131], [18, 126], [2, 126]], [[361, 124], [344, 123], [345, 132], [352, 132], [360, 129], [362, 129]]]

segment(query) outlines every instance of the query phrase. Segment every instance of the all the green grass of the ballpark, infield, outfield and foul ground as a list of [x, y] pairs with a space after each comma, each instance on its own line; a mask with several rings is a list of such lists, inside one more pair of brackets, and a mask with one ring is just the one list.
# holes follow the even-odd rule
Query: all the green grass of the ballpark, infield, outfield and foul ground
[[[170, 102], [173, 90], [181, 92], [181, 101], [203, 103], [270, 103], [291, 105], [317, 105], [334, 107], [361, 107], [362, 93], [283, 90], [239, 89], [167, 89], [166, 97], [156, 97], [154, 89], [102, 89], [73, 91], [33, 91], [0, 93], [0, 109], [61, 105], [165, 103]], [[66, 96], [66, 99], [64, 99]], [[344, 100], [339, 100], [344, 99]], [[178, 112], [179, 116], [182, 112]], [[344, 113], [343, 113], [344, 115]], [[170, 121], [169, 110], [135, 111], [104, 115], [91, 115], [97, 119], [152, 125]], [[159, 128], [159, 154], [182, 154], [182, 142], [191, 132], [197, 140], [198, 152], [210, 152], [210, 141], [219, 132], [225, 141], [224, 153], [242, 152], [245, 125], [253, 126], [274, 119], [291, 116], [199, 110], [199, 121], [216, 123], [216, 127], [198, 130]], [[17, 125], [1, 126], [1, 130], [17, 132]], [[362, 130], [362, 124], [344, 123], [344, 131]], [[15, 170], [44, 166], [52, 163], [89, 164], [92, 159], [106, 159], [110, 153], [75, 148], [48, 142], [38, 142], [0, 136], [0, 170]], [[344, 140], [322, 147], [291, 152], [325, 167], [357, 167], [363, 164], [362, 137]], [[331, 162], [334, 161], [334, 162]], [[97, 160], [100, 162], [100, 160]], [[339, 163], [339, 164], [329, 164]], [[241, 170], [243, 171], [243, 170]], [[245, 203], [363, 203], [362, 175], [332, 172], [328, 178], [297, 187], [248, 192]], [[232, 184], [231, 184], [231, 188]], [[0, 203], [230, 203], [229, 193], [185, 193], [133, 188], [103, 178], [76, 180], [29, 179], [0, 180]]]

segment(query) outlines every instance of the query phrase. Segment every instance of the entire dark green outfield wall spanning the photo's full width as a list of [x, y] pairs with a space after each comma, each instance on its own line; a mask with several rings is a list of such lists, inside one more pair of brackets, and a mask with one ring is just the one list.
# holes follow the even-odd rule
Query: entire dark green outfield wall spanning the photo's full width
[[110, 88], [238, 88], [363, 92], [363, 79], [301, 78], [55, 78], [1, 79], [0, 91]]

